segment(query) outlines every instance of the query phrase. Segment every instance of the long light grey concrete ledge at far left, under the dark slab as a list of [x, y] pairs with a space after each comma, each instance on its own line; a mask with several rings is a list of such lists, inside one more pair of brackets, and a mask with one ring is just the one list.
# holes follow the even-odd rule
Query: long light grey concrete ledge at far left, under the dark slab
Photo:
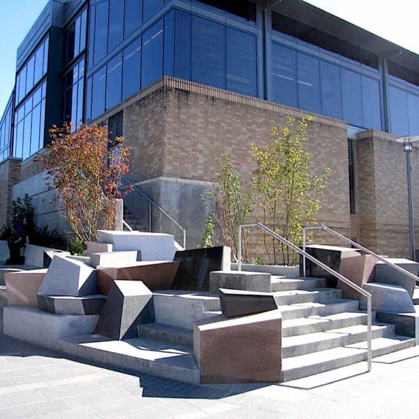
[[4, 335], [53, 351], [59, 348], [61, 337], [91, 335], [97, 321], [97, 315], [63, 316], [33, 307], [9, 306], [3, 309]]

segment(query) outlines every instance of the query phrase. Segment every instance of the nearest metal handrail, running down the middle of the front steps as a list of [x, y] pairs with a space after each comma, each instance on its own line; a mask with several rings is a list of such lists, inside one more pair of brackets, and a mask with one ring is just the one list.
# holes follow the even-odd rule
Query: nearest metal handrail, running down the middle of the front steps
[[300, 247], [295, 246], [295, 244], [288, 242], [288, 240], [284, 239], [281, 235], [278, 233], [275, 233], [270, 228], [267, 228], [262, 223], [259, 223], [258, 221], [251, 222], [251, 223], [245, 223], [241, 224], [239, 227], [239, 245], [237, 249], [237, 259], [238, 259], [238, 267], [237, 270], [242, 270], [242, 228], [244, 227], [259, 227], [262, 228], [262, 230], [265, 230], [267, 233], [278, 239], [280, 242], [286, 244], [286, 246], [291, 247], [293, 251], [296, 251], [303, 257], [311, 260], [311, 262], [316, 263], [319, 267], [323, 268], [326, 272], [329, 272], [331, 275], [339, 279], [340, 281], [344, 282], [347, 286], [353, 288], [355, 291], [358, 291], [361, 295], [367, 298], [367, 362], [368, 362], [368, 372], [371, 371], [372, 366], [372, 298], [371, 294], [362, 289], [360, 286], [353, 284], [352, 281], [350, 281], [348, 278], [344, 277], [343, 275], [339, 274], [339, 272], [336, 272], [328, 265], [325, 265], [320, 260], [316, 259], [314, 256], [311, 256], [309, 253], [307, 253], [304, 250], [301, 250]]

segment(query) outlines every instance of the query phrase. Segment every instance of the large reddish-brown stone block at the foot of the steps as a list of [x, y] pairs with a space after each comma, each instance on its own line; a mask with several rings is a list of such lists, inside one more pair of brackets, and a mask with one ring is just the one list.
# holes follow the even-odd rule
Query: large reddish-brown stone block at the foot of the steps
[[193, 328], [200, 383], [279, 383], [281, 311], [227, 319], [215, 316]]

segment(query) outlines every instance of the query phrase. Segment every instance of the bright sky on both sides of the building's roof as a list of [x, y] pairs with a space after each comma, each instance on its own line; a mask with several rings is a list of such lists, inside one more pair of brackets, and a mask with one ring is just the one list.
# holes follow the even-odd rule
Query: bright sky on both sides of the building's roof
[[[306, 0], [419, 54], [418, 0]], [[16, 50], [47, 0], [0, 0], [0, 116], [15, 83]]]

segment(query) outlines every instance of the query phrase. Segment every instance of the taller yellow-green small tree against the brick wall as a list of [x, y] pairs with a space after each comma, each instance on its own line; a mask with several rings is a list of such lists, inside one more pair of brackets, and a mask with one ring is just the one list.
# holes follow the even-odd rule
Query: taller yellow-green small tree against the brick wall
[[[263, 223], [272, 225], [275, 232], [297, 246], [302, 244], [302, 226], [313, 223], [321, 208], [319, 198], [331, 172], [325, 168], [323, 175], [317, 177], [309, 171], [311, 153], [304, 150], [304, 143], [311, 119], [306, 117], [295, 124], [295, 118], [288, 117], [281, 130], [272, 128], [272, 137], [265, 147], [251, 145], [256, 163], [253, 183], [260, 198]], [[270, 242], [264, 235], [264, 244], [270, 263], [276, 265], [279, 256], [286, 265], [295, 262], [295, 252], [274, 237]]]

